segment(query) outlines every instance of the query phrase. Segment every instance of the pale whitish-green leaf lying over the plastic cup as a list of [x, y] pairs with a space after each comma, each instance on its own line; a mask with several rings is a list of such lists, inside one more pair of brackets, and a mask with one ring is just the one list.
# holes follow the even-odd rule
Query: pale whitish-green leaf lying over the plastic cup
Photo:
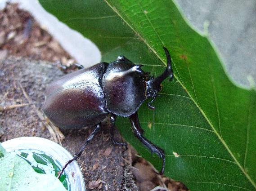
[[52, 174], [39, 174], [16, 155], [7, 153], [0, 144], [0, 191], [67, 191]]

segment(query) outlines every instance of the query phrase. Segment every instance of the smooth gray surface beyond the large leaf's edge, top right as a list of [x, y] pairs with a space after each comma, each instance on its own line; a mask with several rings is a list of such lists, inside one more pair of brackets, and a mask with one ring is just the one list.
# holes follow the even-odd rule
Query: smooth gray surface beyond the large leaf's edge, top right
[[249, 85], [256, 82], [256, 0], [177, 0], [194, 27], [208, 32], [231, 77]]

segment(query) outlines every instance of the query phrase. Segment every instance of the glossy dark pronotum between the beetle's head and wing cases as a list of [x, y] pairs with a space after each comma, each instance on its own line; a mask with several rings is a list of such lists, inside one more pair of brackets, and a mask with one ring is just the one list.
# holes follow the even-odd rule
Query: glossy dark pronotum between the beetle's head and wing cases
[[109, 63], [102, 84], [106, 108], [116, 115], [132, 115], [146, 99], [145, 74], [131, 62]]

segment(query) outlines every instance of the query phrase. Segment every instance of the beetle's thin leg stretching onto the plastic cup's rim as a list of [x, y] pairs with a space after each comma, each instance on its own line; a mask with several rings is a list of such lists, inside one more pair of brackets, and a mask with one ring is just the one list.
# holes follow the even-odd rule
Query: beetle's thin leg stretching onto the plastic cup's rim
[[79, 159], [79, 157], [81, 156], [82, 152], [85, 150], [85, 147], [86, 147], [87, 143], [90, 142], [94, 138], [94, 136], [99, 132], [100, 128], [101, 128], [100, 124], [97, 124], [96, 128], [90, 134], [89, 138], [87, 138], [85, 143], [80, 147], [79, 151], [76, 152], [73, 155], [73, 158], [71, 160], [68, 160], [67, 163], [63, 166], [63, 168], [61, 169], [60, 173], [58, 174], [58, 177], [57, 177], [58, 179], [60, 178], [60, 176], [62, 175], [62, 173], [64, 172], [64, 170], [66, 169], [68, 164], [72, 163], [74, 160], [78, 160]]

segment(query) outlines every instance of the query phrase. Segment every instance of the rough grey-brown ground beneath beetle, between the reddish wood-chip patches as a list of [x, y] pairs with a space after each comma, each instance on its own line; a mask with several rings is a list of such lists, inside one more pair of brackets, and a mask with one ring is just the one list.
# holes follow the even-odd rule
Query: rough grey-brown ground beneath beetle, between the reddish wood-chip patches
[[[74, 153], [89, 137], [92, 128], [60, 132], [49, 124], [41, 108], [45, 85], [64, 74], [55, 65], [24, 58], [9, 57], [0, 64], [0, 126], [1, 141], [36, 136], [51, 139]], [[65, 139], [64, 139], [65, 136]], [[85, 185], [100, 181], [102, 190], [121, 190], [123, 172], [128, 165], [126, 149], [115, 147], [104, 128], [86, 147], [78, 163]], [[96, 187], [95, 187], [96, 188]]]

